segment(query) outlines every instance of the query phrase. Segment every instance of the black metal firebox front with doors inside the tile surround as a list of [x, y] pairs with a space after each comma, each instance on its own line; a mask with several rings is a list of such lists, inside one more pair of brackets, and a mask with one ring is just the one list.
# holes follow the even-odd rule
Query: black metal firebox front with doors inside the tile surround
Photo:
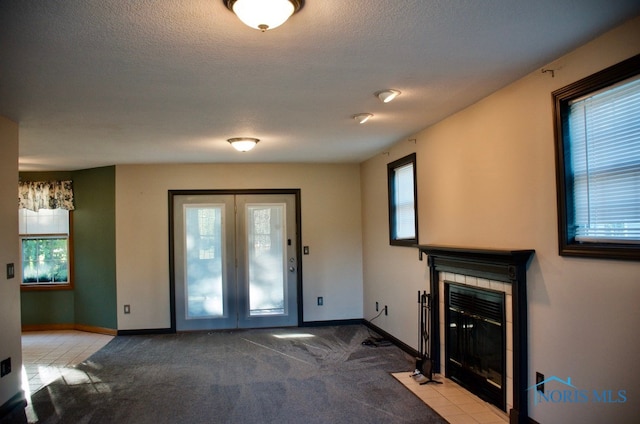
[[445, 287], [446, 375], [505, 410], [504, 293]]

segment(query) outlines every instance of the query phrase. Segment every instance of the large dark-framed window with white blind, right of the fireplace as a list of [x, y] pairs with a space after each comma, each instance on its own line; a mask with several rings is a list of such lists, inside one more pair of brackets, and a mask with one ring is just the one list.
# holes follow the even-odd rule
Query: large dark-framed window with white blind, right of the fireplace
[[553, 97], [560, 254], [640, 259], [640, 55]]

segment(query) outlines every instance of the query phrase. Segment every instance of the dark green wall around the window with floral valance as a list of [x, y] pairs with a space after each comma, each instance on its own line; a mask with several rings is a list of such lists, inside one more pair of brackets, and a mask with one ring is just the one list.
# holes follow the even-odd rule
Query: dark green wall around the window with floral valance
[[22, 292], [22, 324], [117, 328], [115, 167], [25, 172], [23, 181], [73, 180], [74, 289]]

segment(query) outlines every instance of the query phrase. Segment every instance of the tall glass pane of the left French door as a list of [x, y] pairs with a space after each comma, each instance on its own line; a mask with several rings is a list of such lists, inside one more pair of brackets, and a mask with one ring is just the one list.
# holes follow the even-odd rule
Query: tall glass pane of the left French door
[[224, 205], [184, 206], [186, 319], [222, 317]]

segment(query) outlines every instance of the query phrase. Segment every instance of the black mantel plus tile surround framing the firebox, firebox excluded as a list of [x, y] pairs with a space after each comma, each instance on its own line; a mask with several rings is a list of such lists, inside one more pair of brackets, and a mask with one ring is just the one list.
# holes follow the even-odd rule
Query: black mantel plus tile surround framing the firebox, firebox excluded
[[505, 293], [507, 414], [512, 424], [528, 422], [528, 336], [526, 268], [533, 250], [419, 246], [427, 255], [432, 295], [430, 352], [435, 372], [444, 374], [444, 285], [448, 282]]

